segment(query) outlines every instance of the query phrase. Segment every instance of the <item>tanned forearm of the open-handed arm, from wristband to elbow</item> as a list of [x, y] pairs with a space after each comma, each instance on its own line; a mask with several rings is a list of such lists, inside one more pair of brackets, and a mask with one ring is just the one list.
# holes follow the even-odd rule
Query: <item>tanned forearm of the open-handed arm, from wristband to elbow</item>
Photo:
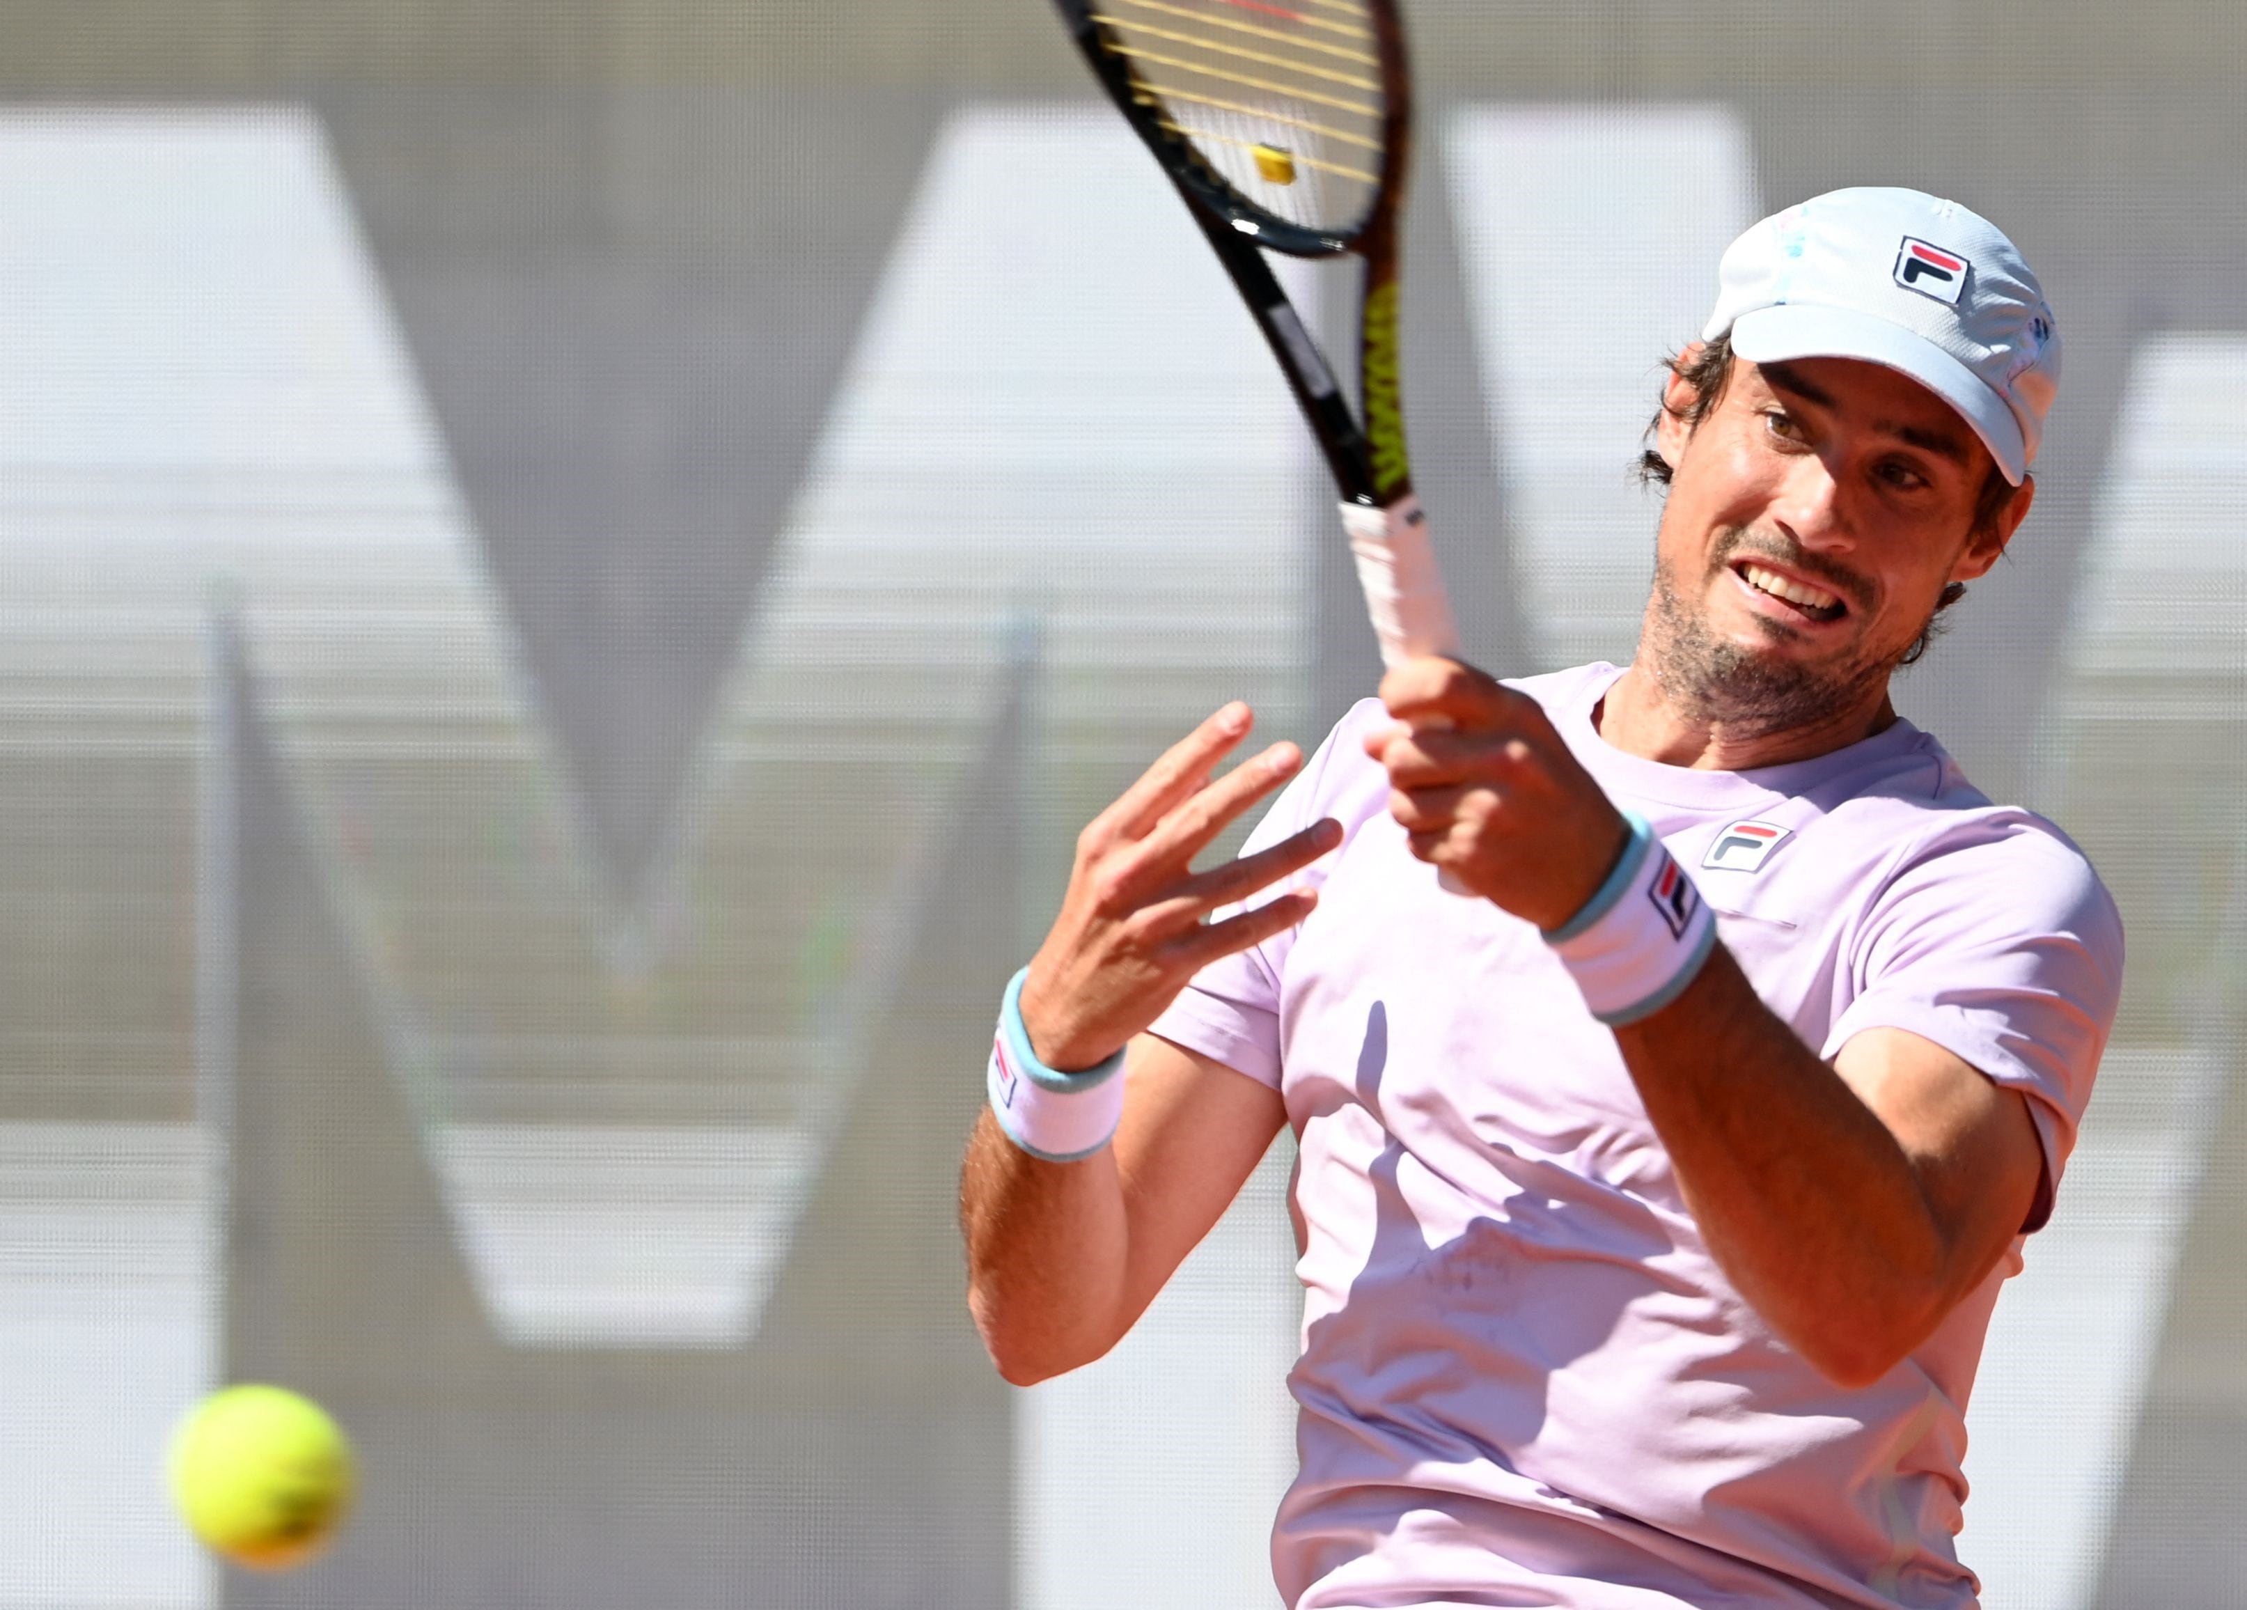
[[1117, 1338], [1130, 1243], [1115, 1151], [1043, 1163], [984, 1111], [959, 1169], [968, 1311], [998, 1372], [1034, 1385]]

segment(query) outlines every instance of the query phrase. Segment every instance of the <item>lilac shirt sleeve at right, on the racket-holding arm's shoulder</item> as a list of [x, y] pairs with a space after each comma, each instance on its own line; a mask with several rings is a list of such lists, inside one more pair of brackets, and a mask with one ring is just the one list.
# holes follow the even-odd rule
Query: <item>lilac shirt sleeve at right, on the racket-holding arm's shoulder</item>
[[2045, 1181], [2025, 1228], [2040, 1230], [2114, 1028], [2121, 962], [2121, 915], [2072, 843], [2027, 812], [1977, 823], [1887, 884], [1822, 1055], [1901, 1028], [2027, 1095]]

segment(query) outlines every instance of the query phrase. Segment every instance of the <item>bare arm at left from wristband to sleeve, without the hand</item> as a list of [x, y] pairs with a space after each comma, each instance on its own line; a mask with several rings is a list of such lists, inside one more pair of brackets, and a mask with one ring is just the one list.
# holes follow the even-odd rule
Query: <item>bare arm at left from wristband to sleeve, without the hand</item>
[[1132, 1041], [1124, 1077], [1124, 1127], [1081, 1163], [1029, 1156], [989, 1109], [968, 1140], [968, 1311], [1018, 1387], [1124, 1340], [1285, 1120], [1272, 1086], [1155, 1034]]

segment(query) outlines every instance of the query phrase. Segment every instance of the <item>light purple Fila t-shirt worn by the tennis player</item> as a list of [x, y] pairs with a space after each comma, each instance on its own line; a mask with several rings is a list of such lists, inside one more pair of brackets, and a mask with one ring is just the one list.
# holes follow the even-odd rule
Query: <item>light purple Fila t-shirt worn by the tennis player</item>
[[[1757, 994], [1820, 1057], [1894, 1025], [2029, 1097], [2047, 1187], [2121, 985], [2083, 854], [1896, 722], [1690, 771], [1611, 749], [1613, 666], [1517, 684], [1645, 814]], [[2020, 1239], [1944, 1327], [1843, 1390], [1717, 1268], [1613, 1034], [1537, 929], [1445, 893], [1386, 812], [1359, 704], [1252, 845], [1348, 832], [1301, 926], [1155, 1023], [1276, 1086], [1299, 1140], [1297, 1610], [1973, 1606], [1953, 1538], [1966, 1392]], [[2049, 1190], [2040, 1194], [2040, 1223]]]

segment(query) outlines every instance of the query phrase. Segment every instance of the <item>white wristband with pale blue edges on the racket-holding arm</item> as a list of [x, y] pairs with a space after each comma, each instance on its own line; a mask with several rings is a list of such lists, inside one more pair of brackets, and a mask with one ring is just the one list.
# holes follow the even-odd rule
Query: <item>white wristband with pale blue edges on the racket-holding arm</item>
[[1717, 917], [1654, 825], [1625, 812], [1631, 839], [1607, 881], [1546, 944], [1609, 1028], [1654, 1016], [1676, 1001], [1717, 944]]

